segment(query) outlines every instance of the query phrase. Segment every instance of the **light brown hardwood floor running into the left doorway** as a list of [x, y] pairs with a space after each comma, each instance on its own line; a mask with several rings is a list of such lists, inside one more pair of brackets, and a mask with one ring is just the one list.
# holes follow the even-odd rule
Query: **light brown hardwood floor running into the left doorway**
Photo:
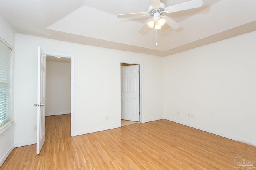
[[46, 117], [46, 141], [15, 148], [0, 170], [232, 170], [256, 147], [167, 120], [70, 137], [70, 115]]

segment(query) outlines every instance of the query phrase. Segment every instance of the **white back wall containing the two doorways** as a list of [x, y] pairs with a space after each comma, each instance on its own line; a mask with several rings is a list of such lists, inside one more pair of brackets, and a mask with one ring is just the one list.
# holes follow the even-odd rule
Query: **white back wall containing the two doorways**
[[[120, 61], [143, 64], [144, 119], [163, 118], [163, 58], [16, 34], [15, 138], [17, 146], [35, 143], [37, 47], [75, 55], [75, 135], [120, 125]], [[109, 120], [106, 120], [106, 116]]]

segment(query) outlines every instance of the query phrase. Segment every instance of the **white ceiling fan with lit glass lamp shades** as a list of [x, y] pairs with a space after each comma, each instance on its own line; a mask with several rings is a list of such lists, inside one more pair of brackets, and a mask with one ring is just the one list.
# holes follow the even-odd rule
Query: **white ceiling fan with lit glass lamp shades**
[[148, 12], [139, 12], [131, 14], [120, 14], [118, 18], [126, 17], [135, 17], [135, 16], [147, 16], [151, 15], [153, 18], [148, 19], [138, 31], [138, 33], [143, 33], [148, 27], [154, 29], [161, 29], [161, 27], [166, 23], [172, 29], [178, 29], [180, 25], [169, 18], [168, 16], [161, 16], [162, 13], [172, 13], [177, 11], [188, 10], [192, 8], [199, 8], [203, 5], [202, 0], [192, 0], [189, 2], [184, 2], [181, 4], [165, 7], [164, 3], [161, 3], [160, 0], [151, 0], [151, 5], [148, 7]]

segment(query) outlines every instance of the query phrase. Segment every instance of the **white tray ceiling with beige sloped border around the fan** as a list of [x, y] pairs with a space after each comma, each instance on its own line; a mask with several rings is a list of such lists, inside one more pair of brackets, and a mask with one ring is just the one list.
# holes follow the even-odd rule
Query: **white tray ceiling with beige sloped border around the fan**
[[0, 0], [0, 14], [16, 33], [158, 56], [256, 31], [255, 0], [203, 0], [201, 8], [165, 14], [181, 27], [164, 25], [157, 34], [138, 33], [151, 16], [116, 17], [149, 6], [150, 0]]

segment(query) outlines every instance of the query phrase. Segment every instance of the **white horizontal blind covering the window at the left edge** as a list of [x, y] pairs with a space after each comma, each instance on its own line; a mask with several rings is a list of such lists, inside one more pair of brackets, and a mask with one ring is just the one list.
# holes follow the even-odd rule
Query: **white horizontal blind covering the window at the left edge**
[[12, 49], [0, 38], [0, 126], [12, 119]]

